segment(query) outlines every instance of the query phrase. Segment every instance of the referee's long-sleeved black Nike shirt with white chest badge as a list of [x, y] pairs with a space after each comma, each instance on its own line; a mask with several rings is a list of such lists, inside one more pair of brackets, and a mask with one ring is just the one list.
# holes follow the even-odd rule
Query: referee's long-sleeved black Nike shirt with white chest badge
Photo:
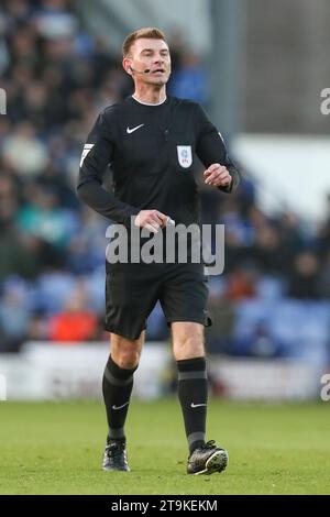
[[[130, 224], [140, 210], [157, 209], [176, 223], [199, 222], [196, 155], [205, 167], [226, 165], [234, 191], [239, 174], [222, 138], [201, 107], [167, 97], [143, 105], [133, 97], [107, 108], [97, 119], [84, 147], [78, 196], [102, 216]], [[102, 188], [107, 167], [113, 172], [113, 193]]]

